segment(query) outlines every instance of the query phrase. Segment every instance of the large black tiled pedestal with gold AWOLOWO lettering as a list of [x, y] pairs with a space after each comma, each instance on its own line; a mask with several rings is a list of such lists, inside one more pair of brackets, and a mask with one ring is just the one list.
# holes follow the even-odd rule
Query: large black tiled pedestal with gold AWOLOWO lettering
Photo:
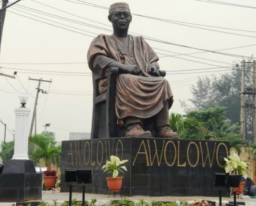
[[[218, 196], [214, 173], [224, 172], [223, 157], [228, 153], [229, 143], [224, 141], [140, 137], [62, 141], [61, 191], [68, 191], [65, 169], [91, 169], [92, 184], [86, 184], [86, 192], [109, 194], [101, 167], [110, 155], [117, 155], [129, 160], [122, 195]], [[223, 195], [228, 195], [226, 188]]]

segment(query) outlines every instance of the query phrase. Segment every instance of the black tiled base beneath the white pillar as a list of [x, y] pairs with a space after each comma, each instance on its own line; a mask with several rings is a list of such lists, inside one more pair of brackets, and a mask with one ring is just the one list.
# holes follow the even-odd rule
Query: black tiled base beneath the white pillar
[[30, 160], [12, 159], [0, 174], [0, 201], [22, 202], [42, 199], [42, 174]]

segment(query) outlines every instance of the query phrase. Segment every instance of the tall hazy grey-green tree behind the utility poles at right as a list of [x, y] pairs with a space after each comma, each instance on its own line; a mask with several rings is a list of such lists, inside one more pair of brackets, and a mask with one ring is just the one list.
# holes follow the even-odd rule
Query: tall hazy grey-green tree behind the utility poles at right
[[[246, 87], [252, 83], [251, 65], [246, 66]], [[212, 80], [208, 77], [198, 78], [195, 85], [192, 85], [192, 98], [189, 101], [192, 106], [182, 102], [186, 112], [201, 110], [215, 106], [226, 108], [224, 116], [232, 123], [240, 121], [240, 92], [241, 92], [241, 71], [242, 68], [236, 65], [232, 72], [225, 73]], [[250, 97], [246, 97], [249, 98]]]

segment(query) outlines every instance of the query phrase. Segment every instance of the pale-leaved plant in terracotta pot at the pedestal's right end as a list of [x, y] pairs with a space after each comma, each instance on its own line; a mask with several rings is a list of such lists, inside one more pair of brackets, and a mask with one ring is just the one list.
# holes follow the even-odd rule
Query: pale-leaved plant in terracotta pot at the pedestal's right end
[[[238, 154], [233, 153], [228, 156], [227, 158], [224, 158], [226, 161], [225, 164], [225, 171], [226, 173], [229, 173], [230, 175], [240, 175], [241, 177], [244, 176], [244, 179], [247, 178], [246, 169], [248, 168], [248, 162], [242, 161]], [[232, 178], [232, 177], [231, 177]], [[239, 184], [239, 187], [233, 187], [233, 191], [236, 192], [236, 194], [243, 194], [244, 192], [244, 181], [241, 181]]]

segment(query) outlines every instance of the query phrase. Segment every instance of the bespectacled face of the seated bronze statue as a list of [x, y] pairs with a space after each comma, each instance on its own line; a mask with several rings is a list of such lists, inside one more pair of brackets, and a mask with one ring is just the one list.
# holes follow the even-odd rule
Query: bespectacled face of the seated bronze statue
[[124, 7], [113, 9], [108, 16], [108, 20], [112, 22], [114, 30], [127, 30], [132, 21], [130, 10]]

